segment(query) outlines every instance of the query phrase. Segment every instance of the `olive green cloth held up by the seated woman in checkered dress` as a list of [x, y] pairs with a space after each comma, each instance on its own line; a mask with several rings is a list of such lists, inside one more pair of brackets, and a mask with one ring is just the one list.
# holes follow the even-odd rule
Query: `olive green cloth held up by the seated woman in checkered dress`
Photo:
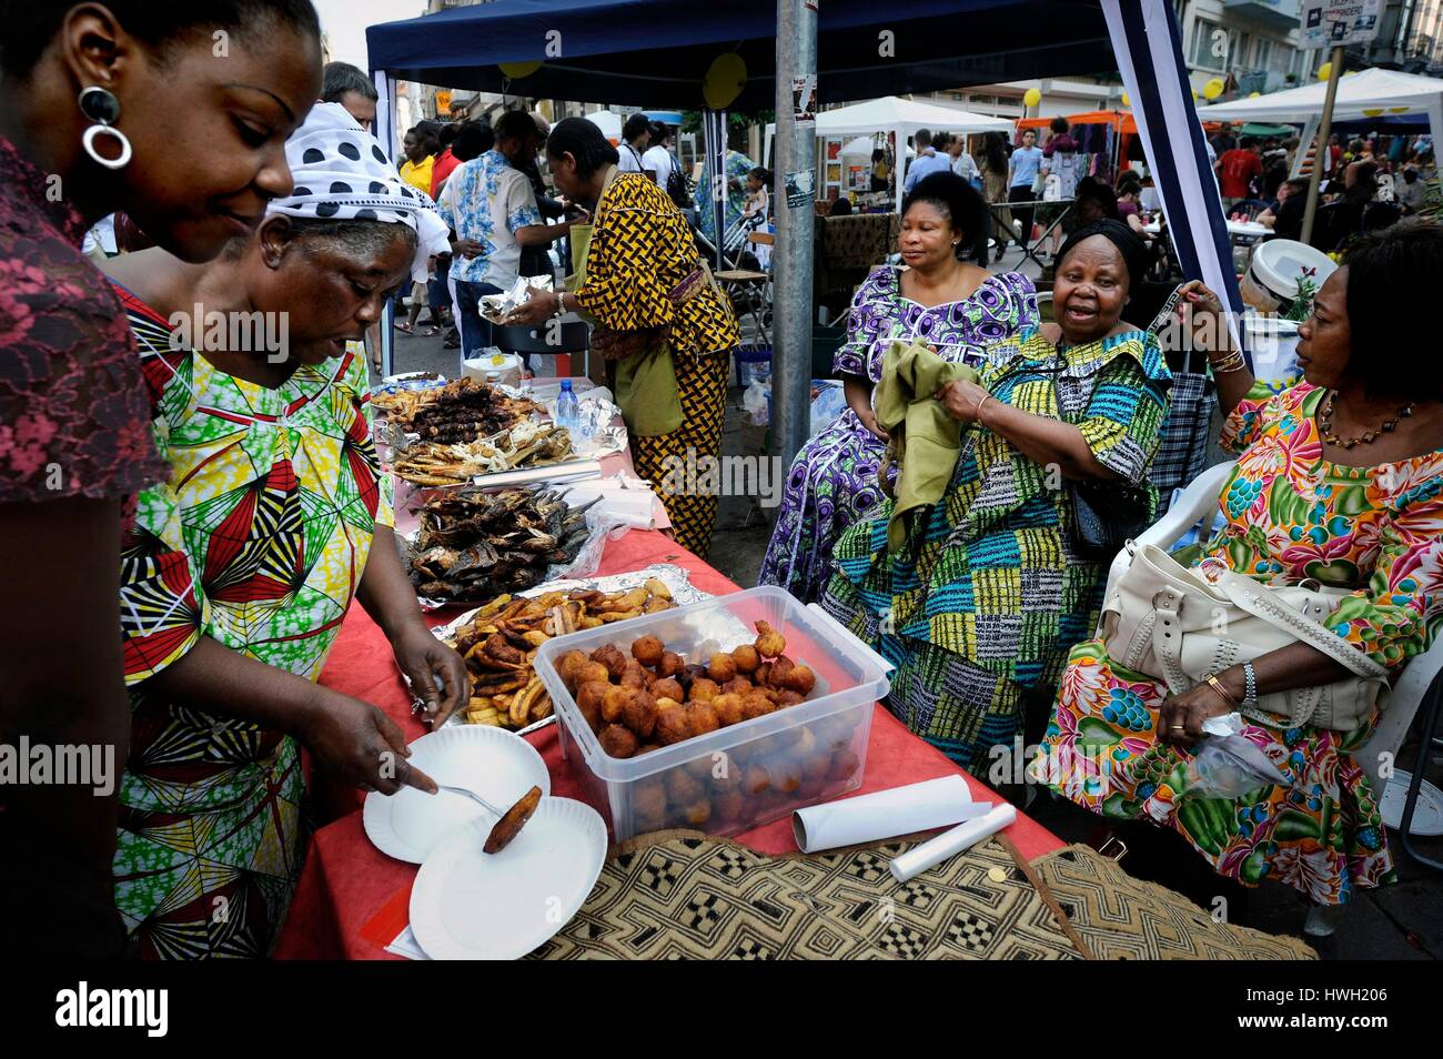
[[937, 391], [957, 379], [977, 382], [977, 378], [965, 364], [944, 361], [922, 342], [908, 345], [893, 339], [882, 358], [877, 424], [890, 436], [893, 460], [900, 467], [887, 519], [887, 551], [900, 548], [906, 537], [902, 517], [942, 499], [957, 466], [962, 424], [935, 400]]

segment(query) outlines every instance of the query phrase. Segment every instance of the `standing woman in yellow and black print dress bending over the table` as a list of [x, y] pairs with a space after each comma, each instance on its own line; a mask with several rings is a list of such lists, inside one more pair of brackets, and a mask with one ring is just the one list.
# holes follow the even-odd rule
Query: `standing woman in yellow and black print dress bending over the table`
[[[557, 190], [596, 202], [584, 281], [571, 293], [532, 291], [511, 320], [535, 325], [557, 312], [579, 310], [596, 322], [592, 351], [618, 371], [644, 361], [658, 342], [667, 343], [675, 392], [665, 431], [658, 431], [655, 420], [667, 418], [659, 408], [670, 382], [648, 388], [635, 410], [623, 400], [622, 411], [636, 473], [661, 495], [677, 542], [706, 558], [717, 496], [694, 486], [704, 480], [707, 460], [722, 454], [727, 364], [740, 340], [732, 306], [711, 281], [687, 219], [665, 188], [644, 173], [616, 172], [616, 149], [600, 128], [586, 118], [557, 123], [547, 156]], [[700, 470], [693, 476], [688, 467]]]

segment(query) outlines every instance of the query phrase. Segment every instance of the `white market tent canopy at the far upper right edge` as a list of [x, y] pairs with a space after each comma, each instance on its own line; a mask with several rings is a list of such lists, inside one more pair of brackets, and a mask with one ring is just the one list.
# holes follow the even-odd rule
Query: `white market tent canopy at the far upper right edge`
[[[1315, 81], [1302, 88], [1199, 107], [1198, 117], [1203, 121], [1304, 121], [1306, 144], [1317, 131], [1326, 97], [1328, 82]], [[1333, 120], [1348, 121], [1417, 111], [1429, 115], [1433, 136], [1443, 137], [1443, 79], [1371, 68], [1345, 74], [1338, 81]]]

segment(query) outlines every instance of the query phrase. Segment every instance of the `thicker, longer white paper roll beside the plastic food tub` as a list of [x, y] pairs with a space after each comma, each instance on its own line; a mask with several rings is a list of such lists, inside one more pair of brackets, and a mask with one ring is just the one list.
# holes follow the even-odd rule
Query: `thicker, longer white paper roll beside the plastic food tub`
[[798, 809], [792, 814], [792, 835], [798, 850], [817, 853], [960, 824], [988, 808], [973, 801], [961, 776], [939, 776]]

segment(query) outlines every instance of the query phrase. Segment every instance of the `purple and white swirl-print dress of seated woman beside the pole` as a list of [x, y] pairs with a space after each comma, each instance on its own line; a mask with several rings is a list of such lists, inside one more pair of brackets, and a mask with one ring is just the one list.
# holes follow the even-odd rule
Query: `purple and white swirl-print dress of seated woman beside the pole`
[[[1022, 273], [988, 276], [970, 297], [924, 306], [902, 296], [900, 270], [883, 265], [851, 300], [847, 340], [833, 371], [874, 387], [892, 339], [929, 342], [947, 361], [977, 365], [988, 348], [1035, 326], [1038, 297]], [[885, 454], [886, 441], [851, 408], [801, 447], [786, 473], [758, 584], [779, 584], [802, 602], [821, 596], [837, 538], [882, 501], [877, 475]]]

